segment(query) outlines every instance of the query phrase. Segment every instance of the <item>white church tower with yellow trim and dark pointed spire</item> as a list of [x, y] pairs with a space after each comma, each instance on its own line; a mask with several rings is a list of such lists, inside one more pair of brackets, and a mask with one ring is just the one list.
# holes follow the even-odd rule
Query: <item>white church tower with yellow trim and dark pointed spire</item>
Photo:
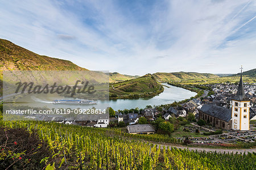
[[250, 129], [250, 101], [245, 96], [241, 78], [237, 89], [237, 95], [232, 99], [232, 129], [233, 130], [249, 130]]

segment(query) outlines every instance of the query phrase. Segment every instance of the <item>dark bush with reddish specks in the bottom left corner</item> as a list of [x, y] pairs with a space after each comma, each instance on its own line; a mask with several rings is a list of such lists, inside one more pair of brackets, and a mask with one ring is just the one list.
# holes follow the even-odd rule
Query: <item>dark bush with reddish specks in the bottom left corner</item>
[[[8, 136], [8, 139], [6, 138]], [[50, 157], [51, 152], [47, 142], [39, 139], [36, 132], [28, 132], [24, 128], [0, 127], [0, 169], [43, 169], [44, 157]]]

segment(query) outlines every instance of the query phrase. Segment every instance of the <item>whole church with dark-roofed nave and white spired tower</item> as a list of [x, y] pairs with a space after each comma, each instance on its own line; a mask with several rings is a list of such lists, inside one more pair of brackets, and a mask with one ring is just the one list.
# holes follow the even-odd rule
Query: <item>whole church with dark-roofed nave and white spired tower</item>
[[245, 96], [241, 78], [236, 96], [232, 99], [232, 108], [204, 104], [199, 110], [199, 119], [222, 129], [250, 130], [250, 101]]

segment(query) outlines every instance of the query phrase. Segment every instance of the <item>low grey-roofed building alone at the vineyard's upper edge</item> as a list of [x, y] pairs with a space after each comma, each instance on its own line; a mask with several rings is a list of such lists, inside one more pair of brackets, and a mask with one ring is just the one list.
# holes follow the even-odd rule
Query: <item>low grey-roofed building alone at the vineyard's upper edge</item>
[[154, 134], [155, 128], [152, 125], [129, 125], [127, 126], [129, 134]]

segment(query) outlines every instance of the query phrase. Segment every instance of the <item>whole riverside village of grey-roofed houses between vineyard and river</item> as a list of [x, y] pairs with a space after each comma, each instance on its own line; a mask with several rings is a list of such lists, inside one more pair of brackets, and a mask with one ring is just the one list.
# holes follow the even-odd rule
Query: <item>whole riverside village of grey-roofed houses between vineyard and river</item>
[[[205, 90], [207, 93], [203, 96], [191, 98], [184, 103], [115, 111], [110, 107], [110, 117], [104, 114], [100, 116], [78, 115], [74, 119], [37, 115], [36, 119], [56, 121], [67, 125], [115, 127], [129, 134], [168, 134], [181, 141], [189, 140], [193, 144], [254, 142], [256, 139], [256, 85], [243, 85], [241, 77], [239, 85], [225, 83], [207, 86], [214, 94], [207, 95], [208, 91]], [[238, 93], [242, 95], [238, 101], [245, 100], [248, 103], [246, 107], [243, 107], [248, 109], [248, 118], [243, 115], [246, 121], [248, 119], [247, 129], [242, 129], [242, 126], [237, 128], [240, 120], [237, 122], [236, 117], [233, 117], [233, 115], [237, 116], [237, 113], [233, 113], [237, 110], [232, 111], [232, 102], [236, 101]], [[112, 113], [110, 113], [111, 110]], [[84, 121], [85, 119], [87, 121]], [[171, 130], [161, 130], [160, 124], [156, 122], [168, 122]]]

